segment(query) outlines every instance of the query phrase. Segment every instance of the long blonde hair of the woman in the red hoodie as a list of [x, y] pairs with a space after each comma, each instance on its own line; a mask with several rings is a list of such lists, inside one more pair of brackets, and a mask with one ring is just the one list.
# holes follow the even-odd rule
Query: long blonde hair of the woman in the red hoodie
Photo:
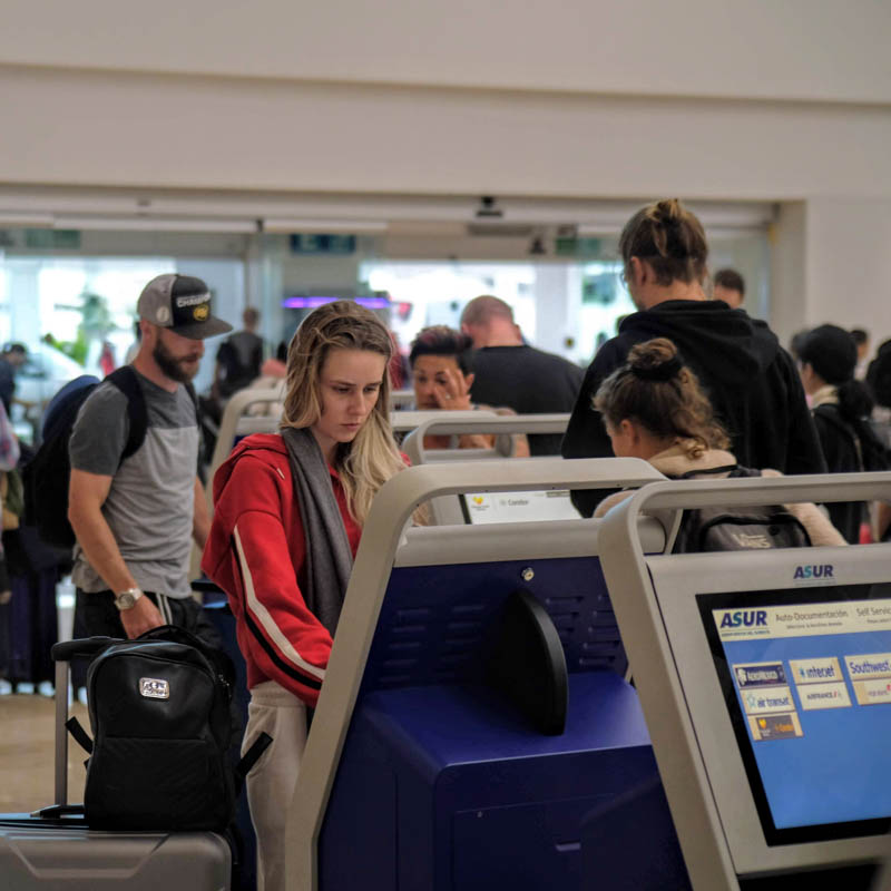
[[405, 468], [390, 427], [390, 333], [374, 313], [354, 301], [339, 300], [314, 310], [287, 347], [287, 392], [282, 428], [306, 428], [322, 417], [321, 374], [331, 350], [363, 350], [385, 359], [378, 401], [352, 442], [337, 446], [334, 462], [346, 507], [364, 526], [381, 486]]

